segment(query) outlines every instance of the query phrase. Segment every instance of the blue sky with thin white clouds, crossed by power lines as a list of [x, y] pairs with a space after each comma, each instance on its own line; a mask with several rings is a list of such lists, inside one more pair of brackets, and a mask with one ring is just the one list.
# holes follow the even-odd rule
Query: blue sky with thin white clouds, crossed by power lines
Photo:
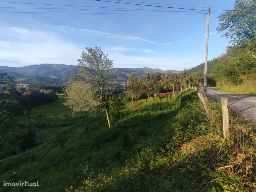
[[[235, 2], [235, 0], [133, 1], [215, 7], [213, 10], [227, 9], [222, 7], [232, 8]], [[162, 7], [127, 5], [92, 0], [13, 0], [12, 2], [182, 11]], [[0, 9], [0, 11], [11, 12], [124, 13], [124, 11], [34, 9], [104, 8], [3, 2], [0, 2], [0, 7], [12, 7]], [[183, 8], [206, 10], [206, 8], [199, 7]], [[142, 11], [130, 11], [129, 13], [142, 13]], [[219, 24], [217, 17], [218, 15], [215, 14], [211, 14], [210, 16], [208, 60], [223, 54], [229, 45], [228, 40], [216, 32], [216, 27]], [[114, 67], [149, 67], [160, 68], [162, 70], [190, 69], [204, 62], [205, 33], [206, 17], [202, 13], [173, 15], [0, 13], [0, 65], [11, 67], [43, 63], [77, 65], [77, 59], [80, 57], [81, 52], [84, 51], [84, 48], [97, 45], [113, 60]]]

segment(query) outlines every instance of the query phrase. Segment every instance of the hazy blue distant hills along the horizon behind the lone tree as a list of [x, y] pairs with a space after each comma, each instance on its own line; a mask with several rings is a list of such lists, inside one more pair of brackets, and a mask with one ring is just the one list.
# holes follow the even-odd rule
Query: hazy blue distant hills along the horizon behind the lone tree
[[[76, 65], [64, 65], [64, 64], [41, 64], [41, 65], [29, 65], [25, 67], [7, 67], [0, 66], [0, 73], [7, 72], [9, 76], [15, 78], [22, 78], [24, 83], [34, 82], [38, 83], [62, 83], [63, 77], [77, 71]], [[172, 72], [174, 74], [181, 73], [180, 71], [151, 68], [114, 68], [114, 79], [117, 83], [125, 82], [128, 79], [130, 73], [135, 73], [137, 78], [145, 77], [147, 73], [166, 73]], [[24, 79], [25, 78], [25, 79]], [[27, 79], [26, 79], [27, 78]]]

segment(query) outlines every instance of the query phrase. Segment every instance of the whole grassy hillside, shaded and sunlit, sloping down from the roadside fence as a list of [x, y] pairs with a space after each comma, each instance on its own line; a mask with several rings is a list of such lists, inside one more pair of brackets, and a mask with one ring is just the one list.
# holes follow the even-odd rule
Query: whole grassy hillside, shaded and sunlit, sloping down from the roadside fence
[[[227, 161], [220, 129], [206, 119], [192, 92], [184, 92], [182, 102], [179, 96], [143, 99], [135, 111], [126, 103], [111, 128], [95, 113], [71, 126], [42, 129], [45, 145], [0, 162], [0, 183], [39, 181], [39, 187], [0, 185], [0, 191], [232, 191], [237, 178], [214, 169]], [[212, 104], [219, 119], [220, 104]]]

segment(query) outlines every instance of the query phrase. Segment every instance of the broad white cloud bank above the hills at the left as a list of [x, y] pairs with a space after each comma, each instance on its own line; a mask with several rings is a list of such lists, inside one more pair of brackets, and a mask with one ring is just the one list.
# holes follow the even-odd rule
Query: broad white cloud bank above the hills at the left
[[25, 64], [76, 64], [79, 46], [58, 34], [27, 28], [0, 26], [1, 60]]

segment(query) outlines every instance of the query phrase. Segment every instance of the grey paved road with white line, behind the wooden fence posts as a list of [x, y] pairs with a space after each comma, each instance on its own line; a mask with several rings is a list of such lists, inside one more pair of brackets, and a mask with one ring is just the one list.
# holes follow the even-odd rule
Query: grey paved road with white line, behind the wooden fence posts
[[[245, 115], [251, 122], [256, 123], [256, 96], [241, 95], [207, 88], [207, 95], [221, 101], [221, 97], [229, 98], [229, 105]], [[203, 89], [200, 89], [203, 91]]]

